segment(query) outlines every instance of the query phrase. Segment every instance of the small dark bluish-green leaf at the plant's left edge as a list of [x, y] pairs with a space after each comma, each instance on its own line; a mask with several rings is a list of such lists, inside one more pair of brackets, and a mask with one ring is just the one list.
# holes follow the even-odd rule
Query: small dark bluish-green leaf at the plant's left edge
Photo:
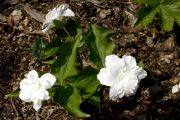
[[34, 57], [38, 58], [39, 60], [44, 59], [44, 50], [46, 48], [47, 42], [41, 38], [38, 38], [32, 45], [31, 50]]

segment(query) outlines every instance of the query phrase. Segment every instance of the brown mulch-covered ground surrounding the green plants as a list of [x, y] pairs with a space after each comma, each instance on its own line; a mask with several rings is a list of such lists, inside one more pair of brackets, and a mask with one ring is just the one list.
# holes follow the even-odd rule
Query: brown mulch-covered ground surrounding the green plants
[[[81, 120], [49, 100], [37, 113], [30, 103], [5, 95], [19, 87], [31, 69], [42, 73], [49, 67], [31, 53], [31, 44], [41, 33], [43, 15], [61, 3], [68, 3], [84, 30], [90, 23], [113, 29], [115, 54], [130, 54], [142, 60], [149, 75], [137, 94], [117, 102], [101, 91], [101, 111], [83, 104], [91, 114], [87, 120], [179, 120], [180, 93], [172, 86], [180, 82], [180, 28], [164, 33], [155, 20], [149, 27], [133, 28], [138, 5], [128, 0], [2, 0], [0, 1], [0, 120]], [[20, 10], [13, 16], [13, 11]], [[14, 22], [13, 22], [14, 21]]]

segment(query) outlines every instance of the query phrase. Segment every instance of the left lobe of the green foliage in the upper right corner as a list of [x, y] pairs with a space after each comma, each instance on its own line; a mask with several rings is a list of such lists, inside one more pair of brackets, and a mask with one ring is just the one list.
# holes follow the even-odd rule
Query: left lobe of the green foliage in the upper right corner
[[138, 20], [137, 20], [135, 25], [146, 27], [147, 25], [149, 25], [153, 21], [156, 13], [157, 13], [157, 8], [142, 7], [137, 13]]

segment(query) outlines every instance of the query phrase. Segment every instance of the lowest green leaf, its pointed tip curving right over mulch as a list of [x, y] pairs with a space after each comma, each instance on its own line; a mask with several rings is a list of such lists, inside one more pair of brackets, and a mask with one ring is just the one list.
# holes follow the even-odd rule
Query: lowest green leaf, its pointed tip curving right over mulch
[[70, 85], [58, 88], [54, 100], [78, 117], [90, 117], [89, 114], [84, 113], [80, 109], [82, 100], [77, 88]]

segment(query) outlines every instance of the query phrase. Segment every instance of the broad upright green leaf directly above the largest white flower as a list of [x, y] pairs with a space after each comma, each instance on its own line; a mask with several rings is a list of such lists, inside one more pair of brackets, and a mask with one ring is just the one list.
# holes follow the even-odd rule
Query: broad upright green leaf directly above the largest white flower
[[91, 25], [90, 30], [84, 35], [84, 40], [90, 50], [90, 60], [99, 68], [104, 66], [105, 57], [112, 54], [115, 44], [107, 38], [112, 30], [98, 25]]

